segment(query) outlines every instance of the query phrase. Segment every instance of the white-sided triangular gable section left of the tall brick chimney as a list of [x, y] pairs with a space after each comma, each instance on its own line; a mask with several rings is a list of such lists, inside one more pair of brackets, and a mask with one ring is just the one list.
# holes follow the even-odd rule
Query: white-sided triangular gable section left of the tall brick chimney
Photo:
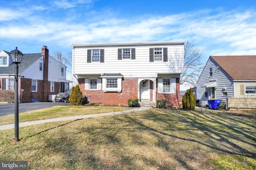
[[24, 78], [43, 80], [43, 71], [39, 70], [39, 63], [43, 63], [44, 67], [44, 56], [40, 57], [37, 61], [28, 66], [21, 75], [24, 76]]

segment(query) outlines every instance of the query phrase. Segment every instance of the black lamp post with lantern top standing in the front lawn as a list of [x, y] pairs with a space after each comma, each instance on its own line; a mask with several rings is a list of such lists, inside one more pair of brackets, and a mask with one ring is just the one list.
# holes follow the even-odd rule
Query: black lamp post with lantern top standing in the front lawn
[[12, 63], [16, 64], [14, 73], [15, 73], [15, 83], [14, 83], [14, 124], [15, 124], [15, 137], [14, 141], [19, 141], [19, 66], [21, 59], [23, 57], [22, 52], [20, 52], [17, 47], [16, 49], [10, 51], [10, 55], [12, 57]]

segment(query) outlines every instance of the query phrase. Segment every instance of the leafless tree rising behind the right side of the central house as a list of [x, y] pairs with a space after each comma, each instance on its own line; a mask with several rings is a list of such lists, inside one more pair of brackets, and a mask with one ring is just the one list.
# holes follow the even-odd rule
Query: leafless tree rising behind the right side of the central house
[[195, 86], [204, 68], [202, 64], [203, 54], [190, 41], [184, 43], [184, 73], [180, 76], [180, 84]]

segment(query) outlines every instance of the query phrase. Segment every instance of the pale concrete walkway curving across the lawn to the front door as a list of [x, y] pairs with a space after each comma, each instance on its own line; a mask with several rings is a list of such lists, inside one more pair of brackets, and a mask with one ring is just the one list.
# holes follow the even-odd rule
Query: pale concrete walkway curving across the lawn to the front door
[[[69, 116], [69, 117], [57, 117], [53, 119], [44, 119], [44, 120], [37, 120], [37, 121], [26, 121], [19, 123], [19, 127], [29, 126], [29, 125], [38, 125], [42, 123], [54, 122], [54, 121], [66, 121], [66, 120], [76, 120], [76, 119], [84, 119], [89, 117], [99, 117], [99, 116], [107, 116], [107, 115], [119, 115], [124, 113], [134, 113], [136, 111], [143, 111], [146, 109], [151, 109], [152, 107], [138, 107], [136, 109], [124, 110], [124, 111], [116, 111], [116, 112], [109, 112], [109, 113], [98, 113], [92, 115], [80, 115], [80, 116]], [[14, 123], [9, 125], [1, 125], [0, 131], [6, 129], [14, 129]]]

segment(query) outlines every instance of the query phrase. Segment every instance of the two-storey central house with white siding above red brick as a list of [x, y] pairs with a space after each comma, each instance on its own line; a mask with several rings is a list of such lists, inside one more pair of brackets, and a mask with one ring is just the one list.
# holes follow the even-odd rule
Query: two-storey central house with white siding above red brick
[[127, 105], [166, 99], [179, 106], [184, 41], [72, 45], [72, 72], [91, 102]]

